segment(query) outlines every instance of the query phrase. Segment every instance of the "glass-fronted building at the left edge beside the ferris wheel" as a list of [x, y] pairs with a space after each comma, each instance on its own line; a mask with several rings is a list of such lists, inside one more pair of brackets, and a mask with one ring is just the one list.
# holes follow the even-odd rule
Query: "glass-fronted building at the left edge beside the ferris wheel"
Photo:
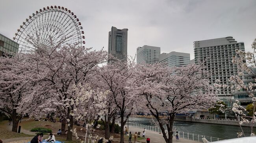
[[15, 53], [18, 53], [18, 50], [18, 43], [0, 34], [0, 56], [3, 56], [3, 53], [8, 53], [9, 55], [14, 56]]

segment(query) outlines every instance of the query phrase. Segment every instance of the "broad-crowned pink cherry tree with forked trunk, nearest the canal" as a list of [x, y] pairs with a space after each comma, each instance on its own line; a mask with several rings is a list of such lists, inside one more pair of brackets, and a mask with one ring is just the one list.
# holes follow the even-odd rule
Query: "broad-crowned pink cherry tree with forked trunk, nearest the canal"
[[145, 103], [144, 109], [156, 118], [166, 143], [173, 142], [175, 114], [208, 108], [216, 103], [208, 76], [201, 65], [195, 64], [187, 67], [167, 67], [165, 63], [137, 65], [134, 94], [143, 97], [140, 102]]

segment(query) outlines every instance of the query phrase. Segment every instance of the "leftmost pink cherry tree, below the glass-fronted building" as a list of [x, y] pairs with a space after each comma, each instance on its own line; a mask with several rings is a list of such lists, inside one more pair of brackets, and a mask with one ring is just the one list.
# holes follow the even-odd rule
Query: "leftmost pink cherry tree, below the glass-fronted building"
[[12, 119], [12, 131], [17, 132], [19, 120], [26, 112], [20, 101], [30, 94], [36, 77], [31, 75], [33, 66], [29, 64], [29, 56], [16, 54], [14, 57], [0, 58], [0, 111]]

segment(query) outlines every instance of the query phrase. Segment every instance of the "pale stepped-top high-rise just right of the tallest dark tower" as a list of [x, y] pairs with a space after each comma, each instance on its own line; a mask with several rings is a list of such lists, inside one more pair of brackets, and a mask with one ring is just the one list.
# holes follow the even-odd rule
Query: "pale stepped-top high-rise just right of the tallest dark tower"
[[159, 62], [160, 47], [144, 45], [137, 47], [137, 63], [156, 63]]

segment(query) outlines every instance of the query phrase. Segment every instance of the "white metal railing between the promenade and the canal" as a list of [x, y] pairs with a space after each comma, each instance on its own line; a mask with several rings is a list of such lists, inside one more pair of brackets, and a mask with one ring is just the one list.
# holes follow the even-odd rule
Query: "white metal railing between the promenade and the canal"
[[[120, 123], [120, 121], [116, 120], [115, 123]], [[156, 127], [156, 126], [149, 126], [149, 125], [143, 125], [143, 124], [132, 123], [132, 122], [129, 122], [129, 123], [126, 122], [125, 125], [128, 125], [128, 124], [131, 127], [136, 127], [136, 128], [139, 128], [139, 129], [146, 129], [146, 130], [150, 130], [150, 131], [153, 131], [153, 132], [162, 133], [161, 129], [159, 127]], [[173, 131], [173, 132], [174, 132], [173, 137], [175, 139], [176, 131]], [[204, 136], [204, 135], [200, 135], [200, 134], [192, 134], [192, 133], [189, 133], [189, 132], [181, 132], [181, 131], [177, 131], [177, 132], [179, 134], [179, 138], [189, 139], [189, 140], [198, 141], [198, 142], [202, 142], [202, 143], [203, 143], [202, 138], [206, 138], [210, 142], [224, 140], [224, 139], [221, 139], [221, 138]], [[165, 130], [165, 133], [168, 134], [167, 130]]]

